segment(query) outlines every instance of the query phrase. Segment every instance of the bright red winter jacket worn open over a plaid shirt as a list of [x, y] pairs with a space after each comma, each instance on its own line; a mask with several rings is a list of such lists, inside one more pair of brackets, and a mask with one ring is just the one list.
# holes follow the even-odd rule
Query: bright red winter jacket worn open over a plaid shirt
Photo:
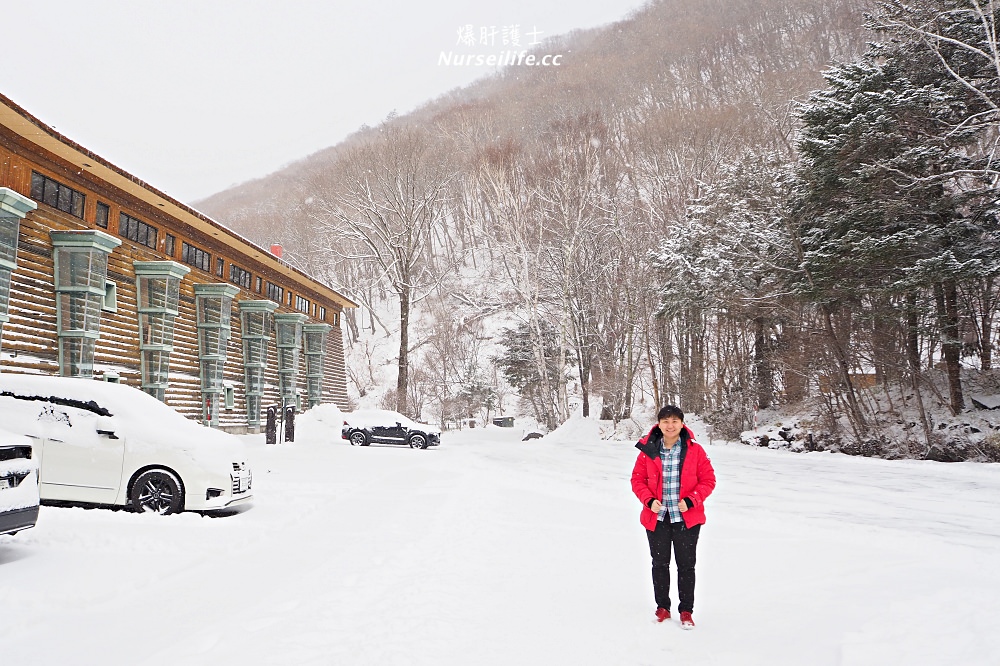
[[[715, 489], [715, 470], [712, 462], [701, 444], [694, 441], [694, 433], [684, 426], [680, 441], [674, 446], [681, 447], [681, 499], [688, 499], [692, 506], [681, 513], [687, 527], [702, 525], [705, 522], [705, 500]], [[642, 513], [639, 522], [650, 532], [656, 529], [656, 513], [647, 504], [652, 498], [663, 502], [663, 461], [660, 460], [660, 450], [663, 447], [663, 433], [659, 427], [653, 429], [639, 440], [635, 448], [639, 449], [639, 457], [632, 469], [632, 492], [642, 502]]]

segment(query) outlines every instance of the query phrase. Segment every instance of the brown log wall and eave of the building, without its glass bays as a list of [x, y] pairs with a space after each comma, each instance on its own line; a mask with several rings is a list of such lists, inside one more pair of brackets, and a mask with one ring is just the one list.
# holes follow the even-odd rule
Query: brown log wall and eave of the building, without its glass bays
[[[25, 131], [25, 128], [30, 131]], [[37, 140], [35, 136], [44, 140]], [[47, 205], [38, 200], [41, 197], [32, 197], [32, 173], [82, 194], [82, 210], [75, 211], [82, 213], [82, 217]], [[102, 173], [107, 178], [102, 178]], [[117, 186], [122, 183], [129, 191]], [[333, 402], [341, 409], [348, 408], [340, 323], [343, 309], [355, 307], [350, 299], [293, 269], [267, 250], [103, 162], [86, 149], [41, 125], [2, 96], [0, 187], [27, 197], [38, 206], [20, 222], [17, 268], [11, 274], [9, 321], [4, 324], [0, 338], [0, 371], [60, 373], [55, 265], [49, 234], [52, 231], [98, 230], [120, 239], [121, 245], [108, 255], [107, 280], [114, 283], [117, 298], [113, 310], [101, 312], [100, 337], [94, 351], [94, 379], [116, 378], [122, 383], [142, 387], [134, 262], [169, 260], [184, 264], [190, 272], [180, 281], [169, 383], [164, 397], [167, 404], [189, 418], [202, 419], [203, 393], [194, 286], [226, 283], [238, 287], [239, 293], [233, 299], [222, 377], [224, 384], [232, 388], [233, 402], [231, 407], [219, 409], [219, 426], [237, 432], [246, 430], [243, 340], [237, 301], [268, 300], [269, 286], [270, 300], [277, 303], [276, 314], [300, 312], [306, 315], [306, 323], [332, 326], [326, 335], [322, 401]], [[179, 214], [172, 215], [171, 211], [179, 211]], [[127, 217], [122, 218], [123, 215]], [[119, 229], [120, 221], [123, 221], [123, 229]], [[134, 221], [155, 228], [155, 242], [142, 234], [139, 236], [146, 242], [130, 239], [127, 223]], [[182, 250], [184, 244], [209, 255], [208, 263], [192, 261], [191, 257], [185, 256]], [[261, 399], [263, 409], [268, 405], [281, 404], [273, 321], [270, 335]], [[301, 395], [299, 406], [306, 409], [309, 396], [305, 358], [301, 352], [297, 385]]]

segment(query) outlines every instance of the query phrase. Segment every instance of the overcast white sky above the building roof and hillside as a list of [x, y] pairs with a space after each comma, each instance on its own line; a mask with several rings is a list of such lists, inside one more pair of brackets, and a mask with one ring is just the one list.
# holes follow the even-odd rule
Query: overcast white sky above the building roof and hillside
[[[495, 69], [440, 65], [442, 52], [515, 48], [504, 37], [527, 48], [643, 4], [10, 1], [0, 92], [113, 164], [193, 202]], [[470, 36], [474, 43], [460, 41]]]

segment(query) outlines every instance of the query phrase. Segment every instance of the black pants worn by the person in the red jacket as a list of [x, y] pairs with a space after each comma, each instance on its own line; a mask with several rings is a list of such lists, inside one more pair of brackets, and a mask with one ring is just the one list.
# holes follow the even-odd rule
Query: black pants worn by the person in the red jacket
[[694, 565], [698, 550], [698, 533], [701, 525], [692, 528], [684, 522], [656, 523], [656, 531], [646, 530], [649, 554], [653, 557], [653, 596], [659, 608], [670, 610], [670, 549], [673, 546], [677, 562], [677, 610], [694, 612]]

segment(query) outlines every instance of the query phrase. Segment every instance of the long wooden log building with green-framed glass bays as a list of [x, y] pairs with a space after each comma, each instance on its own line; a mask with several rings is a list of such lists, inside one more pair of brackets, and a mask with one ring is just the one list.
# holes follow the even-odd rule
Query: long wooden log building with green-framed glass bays
[[350, 299], [0, 95], [0, 372], [115, 381], [255, 432], [347, 407]]

